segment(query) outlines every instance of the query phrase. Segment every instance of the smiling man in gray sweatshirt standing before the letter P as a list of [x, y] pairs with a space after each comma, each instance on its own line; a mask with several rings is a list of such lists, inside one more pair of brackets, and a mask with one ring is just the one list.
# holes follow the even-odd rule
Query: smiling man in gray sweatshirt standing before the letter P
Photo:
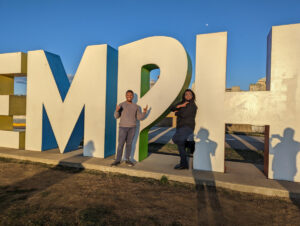
[[148, 105], [143, 109], [141, 113], [138, 105], [132, 102], [133, 91], [126, 91], [126, 101], [116, 106], [116, 111], [114, 113], [115, 118], [120, 118], [119, 123], [119, 138], [118, 138], [118, 149], [116, 160], [111, 164], [111, 166], [117, 166], [121, 163], [123, 155], [123, 147], [126, 143], [125, 161], [129, 166], [134, 166], [133, 162], [130, 160], [132, 141], [135, 135], [136, 122], [137, 120], [142, 120], [145, 118]]

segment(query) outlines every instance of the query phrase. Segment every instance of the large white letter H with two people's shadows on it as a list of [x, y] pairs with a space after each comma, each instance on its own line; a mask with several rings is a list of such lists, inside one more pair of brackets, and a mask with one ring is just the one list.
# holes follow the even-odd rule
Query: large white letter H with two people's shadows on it
[[299, 40], [300, 24], [273, 27], [270, 91], [225, 92], [227, 33], [197, 36], [195, 169], [224, 172], [225, 123], [269, 125], [268, 177], [300, 181]]

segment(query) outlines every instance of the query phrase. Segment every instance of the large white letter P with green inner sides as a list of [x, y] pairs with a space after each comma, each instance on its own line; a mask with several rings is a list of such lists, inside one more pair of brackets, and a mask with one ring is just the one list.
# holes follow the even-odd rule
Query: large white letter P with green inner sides
[[[150, 89], [149, 74], [154, 68], [160, 69], [160, 76]], [[188, 87], [191, 71], [185, 49], [173, 38], [150, 37], [119, 48], [118, 103], [125, 100], [126, 90], [132, 89], [137, 104], [149, 106], [147, 117], [137, 127], [132, 152], [135, 160], [147, 157], [149, 128], [169, 112], [170, 105]]]

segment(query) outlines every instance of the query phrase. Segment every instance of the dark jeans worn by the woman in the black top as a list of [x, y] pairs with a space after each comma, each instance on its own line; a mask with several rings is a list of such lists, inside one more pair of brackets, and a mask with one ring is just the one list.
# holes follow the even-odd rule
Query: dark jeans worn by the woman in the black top
[[175, 144], [177, 144], [178, 151], [180, 154], [180, 165], [183, 167], [188, 167], [187, 155], [185, 151], [185, 142], [188, 137], [193, 134], [194, 130], [190, 127], [181, 127], [176, 128], [176, 133], [174, 134], [172, 140]]

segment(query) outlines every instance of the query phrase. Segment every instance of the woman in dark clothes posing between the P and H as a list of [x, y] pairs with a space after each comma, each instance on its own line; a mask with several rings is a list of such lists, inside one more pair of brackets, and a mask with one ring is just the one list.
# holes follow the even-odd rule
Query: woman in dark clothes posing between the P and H
[[174, 169], [188, 169], [188, 161], [185, 151], [185, 142], [195, 129], [195, 117], [197, 106], [195, 104], [195, 94], [191, 89], [184, 91], [182, 101], [171, 108], [177, 116], [176, 133], [172, 140], [177, 144], [180, 154], [180, 164]]

